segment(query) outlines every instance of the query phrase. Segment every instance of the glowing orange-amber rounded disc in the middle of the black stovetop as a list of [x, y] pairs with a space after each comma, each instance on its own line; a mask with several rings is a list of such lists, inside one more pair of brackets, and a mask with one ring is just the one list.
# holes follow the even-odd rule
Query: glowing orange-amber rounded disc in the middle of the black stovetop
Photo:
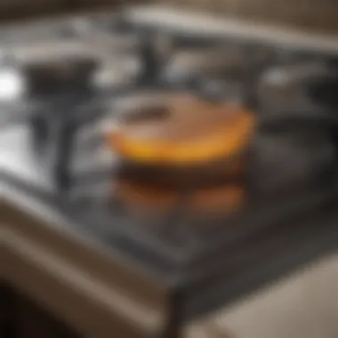
[[186, 165], [237, 155], [253, 130], [254, 116], [235, 103], [175, 94], [125, 111], [107, 139], [128, 160]]

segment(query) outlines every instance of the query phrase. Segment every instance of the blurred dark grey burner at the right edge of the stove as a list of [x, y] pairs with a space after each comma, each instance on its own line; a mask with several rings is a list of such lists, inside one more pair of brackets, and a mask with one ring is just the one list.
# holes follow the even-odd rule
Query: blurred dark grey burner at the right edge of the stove
[[[338, 68], [325, 61], [294, 61], [267, 68], [258, 86], [261, 109], [270, 117], [311, 118], [333, 111], [334, 102], [323, 93], [333, 93]], [[332, 96], [332, 94], [331, 94]]]

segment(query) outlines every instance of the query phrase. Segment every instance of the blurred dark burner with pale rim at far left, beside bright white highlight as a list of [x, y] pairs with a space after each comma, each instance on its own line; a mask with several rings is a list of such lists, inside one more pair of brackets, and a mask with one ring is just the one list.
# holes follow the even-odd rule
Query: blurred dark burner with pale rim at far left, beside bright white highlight
[[73, 39], [4, 47], [1, 124], [45, 116], [46, 111], [63, 115], [61, 110], [69, 111], [74, 104], [133, 85], [141, 72], [140, 59], [133, 52], [114, 53], [105, 47]]

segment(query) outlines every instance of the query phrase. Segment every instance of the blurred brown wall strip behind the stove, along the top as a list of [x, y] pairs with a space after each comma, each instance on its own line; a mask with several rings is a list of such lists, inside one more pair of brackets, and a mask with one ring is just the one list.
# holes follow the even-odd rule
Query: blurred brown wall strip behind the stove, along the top
[[211, 12], [246, 20], [259, 20], [289, 27], [307, 28], [334, 33], [337, 29], [336, 2], [312, 0], [274, 2], [270, 0], [3, 0], [0, 13], [3, 20], [28, 16], [54, 15], [60, 12], [93, 11], [105, 6], [125, 4], [174, 5], [189, 11]]

